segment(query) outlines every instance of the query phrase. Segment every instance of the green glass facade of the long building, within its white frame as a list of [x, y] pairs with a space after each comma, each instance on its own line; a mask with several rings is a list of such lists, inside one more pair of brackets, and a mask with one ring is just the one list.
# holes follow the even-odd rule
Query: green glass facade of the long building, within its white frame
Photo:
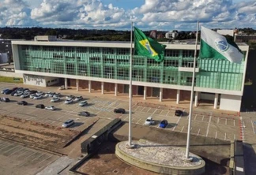
[[[18, 51], [21, 70], [129, 80], [130, 48], [18, 45]], [[190, 86], [192, 72], [179, 67], [193, 65], [194, 50], [165, 50], [162, 62], [135, 55], [132, 76], [134, 81]], [[198, 58], [196, 67], [196, 87], [241, 91], [244, 61]]]

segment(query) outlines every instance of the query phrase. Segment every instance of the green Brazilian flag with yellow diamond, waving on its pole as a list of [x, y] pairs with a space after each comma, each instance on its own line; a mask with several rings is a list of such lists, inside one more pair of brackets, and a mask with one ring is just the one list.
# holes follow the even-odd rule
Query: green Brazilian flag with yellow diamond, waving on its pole
[[158, 62], [164, 60], [165, 45], [147, 37], [140, 29], [134, 27], [134, 49], [136, 55], [152, 58]]

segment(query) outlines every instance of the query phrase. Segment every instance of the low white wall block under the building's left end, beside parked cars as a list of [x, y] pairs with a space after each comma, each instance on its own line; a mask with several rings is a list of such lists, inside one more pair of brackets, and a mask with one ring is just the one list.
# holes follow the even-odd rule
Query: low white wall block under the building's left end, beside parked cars
[[44, 76], [36, 76], [36, 75], [23, 75], [23, 84], [47, 87], [46, 80]]

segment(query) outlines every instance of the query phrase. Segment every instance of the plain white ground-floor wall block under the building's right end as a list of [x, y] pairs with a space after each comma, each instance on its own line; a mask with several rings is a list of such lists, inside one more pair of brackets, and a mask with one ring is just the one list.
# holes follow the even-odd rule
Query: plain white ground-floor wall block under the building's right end
[[220, 110], [240, 111], [242, 97], [237, 95], [220, 95]]

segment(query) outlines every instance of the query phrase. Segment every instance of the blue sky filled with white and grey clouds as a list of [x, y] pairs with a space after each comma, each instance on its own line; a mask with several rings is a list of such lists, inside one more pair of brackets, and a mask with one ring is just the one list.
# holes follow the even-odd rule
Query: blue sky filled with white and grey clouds
[[196, 30], [256, 28], [251, 0], [0, 0], [0, 27]]

